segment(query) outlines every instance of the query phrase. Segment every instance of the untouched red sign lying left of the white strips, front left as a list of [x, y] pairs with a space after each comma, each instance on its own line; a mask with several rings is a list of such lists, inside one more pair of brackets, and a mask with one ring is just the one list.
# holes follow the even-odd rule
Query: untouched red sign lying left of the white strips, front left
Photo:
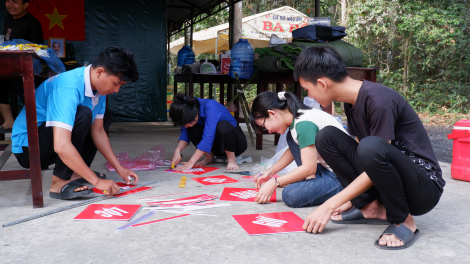
[[129, 221], [140, 204], [90, 204], [73, 220]]

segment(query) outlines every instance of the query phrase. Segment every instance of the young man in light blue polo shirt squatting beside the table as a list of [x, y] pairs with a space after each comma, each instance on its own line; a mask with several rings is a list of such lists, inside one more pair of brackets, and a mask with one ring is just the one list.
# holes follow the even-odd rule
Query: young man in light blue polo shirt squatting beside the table
[[[122, 179], [138, 176], [119, 164], [105, 132], [111, 125], [106, 96], [139, 78], [134, 55], [126, 48], [109, 47], [88, 67], [49, 78], [36, 90], [41, 167], [55, 163], [51, 198], [72, 199], [92, 192], [89, 182], [108, 196], [119, 192], [112, 180], [90, 169], [96, 151], [116, 168]], [[13, 126], [12, 151], [21, 166], [29, 167], [26, 112]]]

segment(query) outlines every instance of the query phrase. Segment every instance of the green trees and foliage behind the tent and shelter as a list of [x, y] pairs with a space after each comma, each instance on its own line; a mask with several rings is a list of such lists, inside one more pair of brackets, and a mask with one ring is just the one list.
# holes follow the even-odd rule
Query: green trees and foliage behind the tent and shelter
[[[341, 2], [322, 0], [321, 15], [347, 26], [345, 40], [364, 52], [363, 66], [380, 68], [378, 82], [419, 112], [469, 112], [470, 0], [346, 0], [345, 21]], [[243, 0], [243, 16], [285, 5], [315, 14], [313, 0]], [[222, 11], [195, 31], [226, 22], [228, 12]], [[256, 86], [246, 95], [250, 102]]]

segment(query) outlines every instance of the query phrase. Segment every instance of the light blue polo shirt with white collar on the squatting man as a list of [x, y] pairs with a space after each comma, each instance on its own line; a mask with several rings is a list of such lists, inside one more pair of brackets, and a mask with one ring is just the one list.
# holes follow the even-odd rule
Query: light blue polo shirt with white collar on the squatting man
[[[92, 122], [95, 118], [103, 119], [106, 96], [93, 94], [90, 68], [91, 65], [53, 76], [36, 89], [38, 126], [46, 123], [47, 127], [62, 127], [72, 131], [79, 105], [91, 109]], [[25, 107], [15, 120], [11, 140], [13, 153], [23, 153], [22, 147], [28, 147]]]

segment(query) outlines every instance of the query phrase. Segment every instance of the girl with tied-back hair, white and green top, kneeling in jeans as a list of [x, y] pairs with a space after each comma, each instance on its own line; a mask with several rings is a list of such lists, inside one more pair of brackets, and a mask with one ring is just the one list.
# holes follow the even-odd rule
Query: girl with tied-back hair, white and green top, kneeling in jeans
[[[256, 132], [266, 128], [269, 133], [284, 134], [288, 128], [289, 148], [282, 157], [256, 179], [256, 202], [266, 203], [277, 187], [284, 203], [290, 207], [319, 205], [339, 193], [343, 188], [335, 174], [321, 164], [315, 148], [316, 134], [327, 126], [335, 127], [347, 136], [344, 128], [330, 114], [310, 109], [293, 93], [262, 92], [253, 101], [251, 124]], [[272, 176], [295, 160], [298, 168], [279, 178]], [[320, 161], [320, 163], [317, 163]], [[264, 183], [261, 186], [261, 183]]]

